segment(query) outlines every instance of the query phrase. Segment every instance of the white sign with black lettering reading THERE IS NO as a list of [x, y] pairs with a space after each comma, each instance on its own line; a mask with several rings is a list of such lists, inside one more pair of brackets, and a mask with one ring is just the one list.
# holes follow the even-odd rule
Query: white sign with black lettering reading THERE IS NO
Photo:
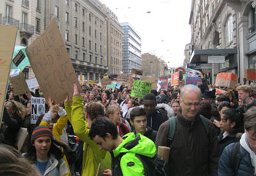
[[36, 124], [39, 116], [45, 113], [44, 98], [32, 97], [31, 98], [31, 124]]

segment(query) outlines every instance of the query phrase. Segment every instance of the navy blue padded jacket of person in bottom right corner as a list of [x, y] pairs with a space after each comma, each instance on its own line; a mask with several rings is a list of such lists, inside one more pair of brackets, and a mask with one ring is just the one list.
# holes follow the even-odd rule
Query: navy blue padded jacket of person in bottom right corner
[[[224, 151], [222, 152], [221, 158], [219, 160], [218, 176], [234, 175], [234, 171], [231, 168], [231, 155], [233, 147], [234, 143], [231, 143], [226, 148], [224, 148]], [[251, 165], [250, 154], [246, 150], [244, 150], [244, 148], [241, 145], [237, 157], [241, 158], [240, 165], [238, 168], [238, 176], [254, 176], [254, 167]]]

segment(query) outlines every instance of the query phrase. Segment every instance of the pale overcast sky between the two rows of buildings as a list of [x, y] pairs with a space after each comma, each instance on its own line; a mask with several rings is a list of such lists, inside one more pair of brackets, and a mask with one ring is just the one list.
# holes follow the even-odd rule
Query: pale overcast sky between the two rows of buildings
[[138, 32], [142, 54], [155, 54], [168, 67], [182, 66], [185, 44], [191, 41], [191, 0], [100, 1], [118, 16], [119, 22], [129, 22]]

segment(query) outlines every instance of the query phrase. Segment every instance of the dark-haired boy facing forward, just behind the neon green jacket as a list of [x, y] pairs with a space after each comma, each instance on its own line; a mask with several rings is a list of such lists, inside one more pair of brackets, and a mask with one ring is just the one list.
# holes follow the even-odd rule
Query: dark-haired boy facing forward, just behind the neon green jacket
[[135, 134], [141, 133], [141, 135], [145, 135], [155, 143], [155, 138], [158, 132], [147, 126], [147, 113], [145, 112], [145, 109], [142, 107], [131, 109], [130, 118], [131, 125], [133, 125], [135, 129], [133, 132], [135, 132]]

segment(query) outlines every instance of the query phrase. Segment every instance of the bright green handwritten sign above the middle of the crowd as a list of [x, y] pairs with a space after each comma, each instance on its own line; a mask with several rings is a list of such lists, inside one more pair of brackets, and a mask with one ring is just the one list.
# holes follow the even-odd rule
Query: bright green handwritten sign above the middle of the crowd
[[152, 83], [141, 80], [134, 80], [131, 90], [131, 96], [136, 98], [143, 98], [146, 94], [150, 93]]

